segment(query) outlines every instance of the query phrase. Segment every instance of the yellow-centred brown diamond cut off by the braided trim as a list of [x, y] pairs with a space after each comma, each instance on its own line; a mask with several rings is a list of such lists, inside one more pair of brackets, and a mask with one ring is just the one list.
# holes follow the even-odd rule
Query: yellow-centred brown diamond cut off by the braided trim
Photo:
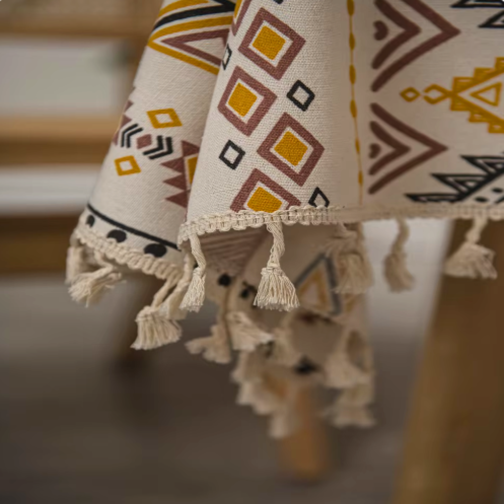
[[273, 213], [300, 205], [301, 202], [280, 184], [262, 171], [254, 169], [231, 204], [231, 210]]

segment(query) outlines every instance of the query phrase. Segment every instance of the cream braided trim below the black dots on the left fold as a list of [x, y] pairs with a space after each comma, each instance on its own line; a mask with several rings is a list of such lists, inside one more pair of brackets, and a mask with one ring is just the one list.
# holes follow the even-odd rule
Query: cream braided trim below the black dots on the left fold
[[114, 239], [105, 238], [82, 221], [75, 229], [74, 236], [93, 251], [104, 254], [107, 259], [121, 266], [127, 266], [131, 270], [154, 275], [160, 280], [166, 280], [173, 270], [181, 271], [182, 269], [181, 265], [155, 258], [140, 250], [132, 250], [128, 246], [117, 243]]

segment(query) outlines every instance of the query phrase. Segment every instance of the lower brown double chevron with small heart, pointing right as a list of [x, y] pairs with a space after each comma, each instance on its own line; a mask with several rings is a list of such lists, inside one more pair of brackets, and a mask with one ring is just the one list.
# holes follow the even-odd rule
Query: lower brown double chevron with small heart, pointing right
[[[375, 142], [369, 146], [369, 157], [374, 162], [368, 171], [369, 175], [380, 174], [381, 177], [369, 187], [369, 194], [380, 191], [404, 173], [448, 149], [400, 121], [376, 103], [371, 104], [371, 111], [380, 120], [372, 120], [369, 124], [371, 132], [380, 143]], [[384, 144], [388, 149], [382, 154]], [[426, 149], [418, 153], [418, 146], [424, 146]], [[413, 157], [412, 151], [417, 152]]]

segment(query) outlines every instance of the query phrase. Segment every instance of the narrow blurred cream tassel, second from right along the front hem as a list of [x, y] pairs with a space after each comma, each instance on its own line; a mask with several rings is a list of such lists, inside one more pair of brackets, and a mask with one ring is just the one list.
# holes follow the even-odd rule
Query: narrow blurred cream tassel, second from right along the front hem
[[404, 245], [409, 237], [408, 224], [404, 219], [397, 219], [397, 223], [399, 234], [384, 263], [385, 278], [392, 292], [411, 290], [414, 284], [414, 278], [406, 265], [406, 252], [404, 250]]

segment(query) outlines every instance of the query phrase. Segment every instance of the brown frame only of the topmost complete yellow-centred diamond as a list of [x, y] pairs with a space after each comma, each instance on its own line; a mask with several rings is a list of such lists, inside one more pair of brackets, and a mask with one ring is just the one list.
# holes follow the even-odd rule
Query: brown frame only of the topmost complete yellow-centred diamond
[[[281, 32], [283, 35], [285, 35], [288, 39], [292, 41], [291, 46], [289, 47], [287, 52], [283, 55], [282, 59], [280, 59], [280, 61], [276, 66], [272, 65], [271, 62], [262, 58], [257, 52], [255, 52], [253, 49], [250, 48], [256, 34], [259, 32], [265, 21], [269, 23], [271, 26], [275, 27], [279, 32]], [[296, 33], [290, 26], [280, 21], [278, 18], [273, 16], [273, 14], [269, 13], [266, 9], [261, 8], [256, 18], [250, 25], [250, 28], [248, 29], [245, 37], [243, 38], [243, 41], [241, 42], [241, 45], [238, 48], [238, 50], [248, 59], [254, 61], [254, 63], [258, 67], [262, 68], [264, 71], [268, 72], [268, 74], [270, 74], [273, 78], [279, 81], [284, 76], [285, 72], [287, 72], [289, 67], [292, 65], [292, 62], [294, 61], [294, 59], [296, 59], [296, 56], [299, 54], [305, 43], [306, 40], [304, 40], [304, 38], [301, 37], [301, 35], [299, 35], [298, 33]]]

